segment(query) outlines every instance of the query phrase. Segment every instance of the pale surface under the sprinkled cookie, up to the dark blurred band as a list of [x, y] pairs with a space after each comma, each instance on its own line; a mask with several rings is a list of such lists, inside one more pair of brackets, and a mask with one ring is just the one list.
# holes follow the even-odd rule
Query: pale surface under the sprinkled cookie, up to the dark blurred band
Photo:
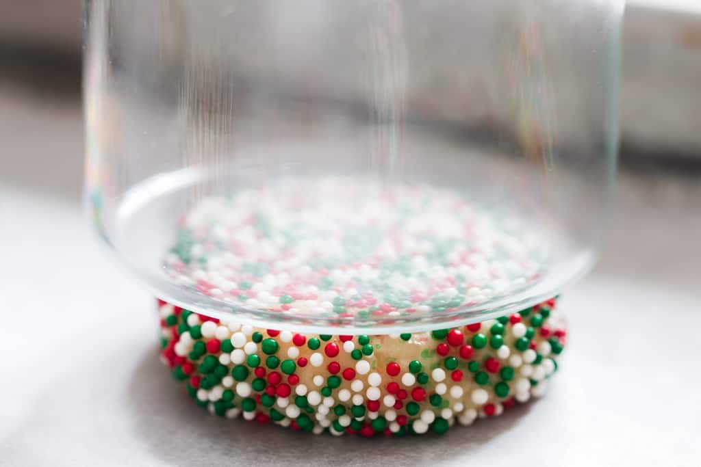
[[153, 302], [81, 214], [81, 117], [0, 92], [0, 466], [701, 463], [701, 176], [622, 177], [599, 266], [563, 300], [546, 396], [443, 437], [212, 417], [158, 361]]

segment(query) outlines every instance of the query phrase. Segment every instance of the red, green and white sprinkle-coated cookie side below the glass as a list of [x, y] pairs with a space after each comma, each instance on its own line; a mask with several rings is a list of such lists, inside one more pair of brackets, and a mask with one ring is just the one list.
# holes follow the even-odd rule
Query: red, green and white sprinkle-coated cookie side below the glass
[[201, 407], [369, 437], [445, 433], [542, 395], [566, 340], [556, 305], [397, 335], [266, 330], [163, 300], [158, 312], [163, 362]]

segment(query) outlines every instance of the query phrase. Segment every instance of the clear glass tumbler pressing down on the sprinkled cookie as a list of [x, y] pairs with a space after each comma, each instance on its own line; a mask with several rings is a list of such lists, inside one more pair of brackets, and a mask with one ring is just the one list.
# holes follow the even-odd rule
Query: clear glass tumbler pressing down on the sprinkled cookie
[[621, 0], [88, 0], [86, 197], [158, 298], [316, 333], [502, 316], [592, 265]]

